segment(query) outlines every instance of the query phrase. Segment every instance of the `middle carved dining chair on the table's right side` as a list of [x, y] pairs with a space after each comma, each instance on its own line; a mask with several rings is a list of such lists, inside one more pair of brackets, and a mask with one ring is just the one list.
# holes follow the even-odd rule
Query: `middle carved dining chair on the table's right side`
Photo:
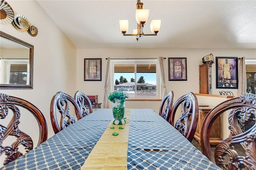
[[[181, 115], [175, 123], [174, 118], [175, 115], [177, 114], [180, 104], [182, 105]], [[181, 96], [174, 103], [169, 122], [182, 135], [184, 135], [184, 137], [186, 137], [188, 141], [192, 141], [196, 132], [196, 126], [198, 122], [198, 101], [196, 95], [193, 92], [189, 92], [184, 96]]]

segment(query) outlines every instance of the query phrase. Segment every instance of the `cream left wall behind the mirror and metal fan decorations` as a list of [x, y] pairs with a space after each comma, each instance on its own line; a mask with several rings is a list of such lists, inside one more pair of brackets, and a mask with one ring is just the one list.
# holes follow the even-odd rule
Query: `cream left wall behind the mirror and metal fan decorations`
[[[11, 96], [28, 100], [44, 114], [48, 124], [48, 138], [54, 135], [50, 121], [50, 102], [52, 96], [63, 91], [71, 96], [76, 92], [76, 48], [62, 33], [51, 18], [35, 0], [8, 0], [15, 14], [24, 15], [29, 22], [38, 26], [38, 35], [32, 37], [27, 32], [20, 32], [12, 24], [1, 24], [1, 31], [22, 41], [34, 45], [34, 86], [32, 90], [1, 90]], [[22, 118], [26, 114], [21, 115]], [[32, 137], [38, 131], [31, 128], [31, 119], [25, 119], [21, 125], [23, 131], [31, 131]], [[37, 143], [34, 142], [35, 145]]]

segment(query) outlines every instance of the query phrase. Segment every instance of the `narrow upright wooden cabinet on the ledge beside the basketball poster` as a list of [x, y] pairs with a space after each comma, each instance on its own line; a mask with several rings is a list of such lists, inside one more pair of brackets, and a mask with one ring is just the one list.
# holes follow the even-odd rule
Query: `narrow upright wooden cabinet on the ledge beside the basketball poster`
[[212, 64], [199, 65], [199, 93], [212, 94]]

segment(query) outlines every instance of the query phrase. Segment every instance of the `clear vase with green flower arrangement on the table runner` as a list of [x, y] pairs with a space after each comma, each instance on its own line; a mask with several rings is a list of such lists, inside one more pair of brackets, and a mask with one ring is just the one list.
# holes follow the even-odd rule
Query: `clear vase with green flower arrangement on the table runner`
[[112, 102], [114, 125], [123, 125], [126, 123], [124, 120], [124, 109], [125, 109], [125, 99], [129, 98], [127, 93], [124, 92], [110, 92], [108, 100]]

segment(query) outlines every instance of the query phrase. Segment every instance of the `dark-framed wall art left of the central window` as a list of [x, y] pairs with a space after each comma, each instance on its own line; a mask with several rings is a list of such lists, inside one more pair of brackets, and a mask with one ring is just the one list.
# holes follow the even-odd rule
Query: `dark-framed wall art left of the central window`
[[84, 81], [101, 81], [101, 59], [84, 59]]

